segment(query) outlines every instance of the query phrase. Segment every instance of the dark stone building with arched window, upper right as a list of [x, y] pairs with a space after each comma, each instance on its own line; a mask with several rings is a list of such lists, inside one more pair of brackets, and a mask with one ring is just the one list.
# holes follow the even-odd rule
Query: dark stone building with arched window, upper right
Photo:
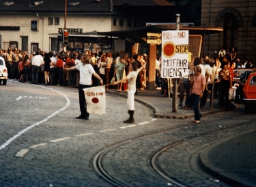
[[202, 0], [201, 25], [223, 27], [223, 33], [205, 36], [203, 55], [218, 57], [221, 47], [234, 47], [242, 60], [256, 60], [255, 0]]

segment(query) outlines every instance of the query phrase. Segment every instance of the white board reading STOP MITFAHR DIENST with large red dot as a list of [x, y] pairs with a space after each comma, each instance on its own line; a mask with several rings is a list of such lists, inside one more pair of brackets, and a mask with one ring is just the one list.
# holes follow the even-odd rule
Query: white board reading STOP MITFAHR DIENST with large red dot
[[188, 31], [162, 31], [161, 78], [188, 71]]

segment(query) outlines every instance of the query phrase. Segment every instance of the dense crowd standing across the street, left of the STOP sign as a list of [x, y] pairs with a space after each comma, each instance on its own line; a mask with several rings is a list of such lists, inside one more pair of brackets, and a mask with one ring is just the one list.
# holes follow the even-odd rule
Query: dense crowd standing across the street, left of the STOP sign
[[[133, 54], [132, 58], [127, 55], [120, 56], [119, 52], [113, 55], [111, 52], [44, 52], [38, 49], [31, 54], [21, 50], [0, 50], [0, 56], [5, 58], [8, 68], [8, 78], [17, 79], [19, 82], [31, 84], [45, 84], [79, 88], [79, 70], [66, 71], [66, 68], [74, 67], [81, 63], [81, 55], [89, 54], [90, 63], [106, 89], [116, 88], [118, 92], [128, 90], [128, 82], [121, 82], [117, 86], [110, 85], [111, 80], [122, 80], [128, 75], [130, 63], [136, 61], [138, 67], [147, 61], [147, 55]], [[98, 86], [100, 82], [92, 77], [92, 86]], [[139, 73], [137, 78], [137, 90], [147, 86], [146, 70]]]

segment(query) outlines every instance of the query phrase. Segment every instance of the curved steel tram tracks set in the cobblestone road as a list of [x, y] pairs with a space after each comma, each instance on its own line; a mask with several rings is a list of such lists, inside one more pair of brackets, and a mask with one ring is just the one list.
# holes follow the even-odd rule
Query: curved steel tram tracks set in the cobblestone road
[[[239, 116], [236, 116], [236, 118], [239, 118], [240, 116], [243, 116], [243, 114], [239, 115]], [[222, 119], [220, 119], [219, 121], [221, 122], [221, 120]], [[218, 123], [218, 121], [217, 121], [217, 123]], [[253, 123], [253, 122], [251, 122], [251, 123]], [[180, 146], [182, 143], [184, 143], [184, 141], [187, 141], [188, 139], [191, 140], [191, 139], [196, 139], [197, 137], [203, 137], [203, 136], [211, 135], [211, 134], [218, 133], [218, 132], [221, 132], [221, 131], [229, 131], [231, 129], [235, 129], [236, 127], [243, 126], [244, 124], [245, 124], [244, 122], [238, 122], [236, 124], [226, 126], [225, 128], [205, 131], [203, 133], [195, 133], [195, 134], [189, 135], [187, 137], [182, 137], [181, 139], [176, 139], [175, 141], [172, 141], [171, 143], [168, 143], [165, 146], [161, 146], [161, 148], [152, 152], [147, 158], [147, 166], [150, 168], [151, 171], [156, 173], [156, 175], [158, 175], [158, 177], [160, 177], [162, 180], [165, 180], [165, 184], [168, 184], [169, 186], [177, 186], [177, 187], [188, 186], [187, 184], [184, 184], [184, 182], [181, 182], [180, 180], [177, 180], [175, 177], [169, 176], [160, 167], [160, 164], [158, 163], [158, 159], [160, 158], [162, 153], [164, 153], [166, 150], [170, 150], [172, 148], [175, 148], [176, 146]], [[246, 125], [248, 125], [248, 124], [250, 124], [249, 121], [246, 122]], [[188, 125], [188, 126], [190, 126], [190, 125]], [[106, 180], [110, 184], [113, 184], [113, 186], [122, 186], [122, 187], [128, 186], [128, 184], [125, 184], [124, 182], [120, 182], [119, 180], [117, 180], [115, 178], [114, 175], [108, 173], [108, 171], [103, 166], [104, 156], [106, 154], [108, 154], [109, 152], [115, 150], [116, 148], [122, 147], [122, 146], [124, 146], [128, 143], [132, 143], [134, 141], [139, 141], [141, 139], [144, 139], [145, 137], [152, 137], [154, 135], [160, 135], [160, 134], [164, 134], [164, 133], [167, 133], [167, 132], [170, 132], [170, 131], [175, 131], [177, 129], [180, 129], [180, 127], [175, 128], [175, 129], [167, 129], [165, 131], [160, 131], [160, 132], [152, 133], [152, 134], [149, 134], [149, 135], [134, 137], [132, 139], [128, 139], [126, 141], [122, 141], [122, 142], [113, 144], [111, 146], [108, 146], [107, 148], [103, 148], [93, 158], [92, 163], [94, 165], [94, 169], [95, 169], [96, 173], [98, 173], [98, 175], [100, 175], [102, 178], [104, 178], [104, 180]]]

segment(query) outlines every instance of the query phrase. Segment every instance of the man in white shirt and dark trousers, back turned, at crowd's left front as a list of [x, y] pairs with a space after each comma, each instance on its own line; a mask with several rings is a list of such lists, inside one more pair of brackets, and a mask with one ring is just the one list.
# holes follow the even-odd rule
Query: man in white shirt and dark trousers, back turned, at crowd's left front
[[39, 54], [39, 52], [35, 52], [35, 56], [32, 60], [32, 84], [38, 84], [38, 76], [39, 71], [44, 62], [44, 58]]

